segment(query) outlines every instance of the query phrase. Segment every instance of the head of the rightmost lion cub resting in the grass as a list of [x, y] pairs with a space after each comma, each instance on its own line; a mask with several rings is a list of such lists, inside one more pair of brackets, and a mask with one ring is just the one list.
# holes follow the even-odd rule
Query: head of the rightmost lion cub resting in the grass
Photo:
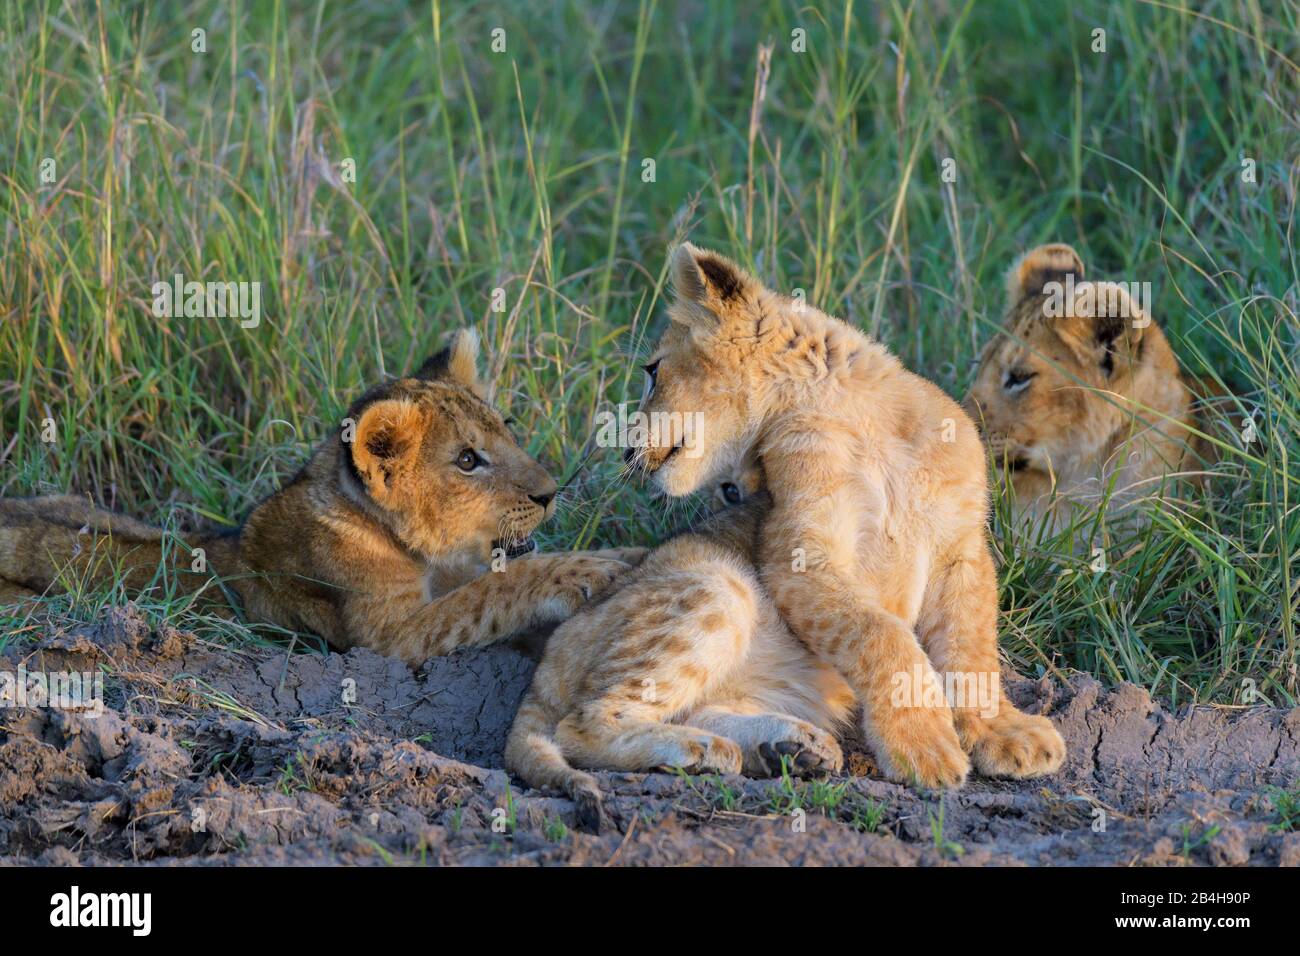
[[1170, 440], [1187, 415], [1178, 360], [1139, 298], [1084, 281], [1079, 255], [1060, 243], [1009, 273], [1006, 321], [980, 354], [966, 408], [1018, 497], [1123, 468], [1127, 438]]

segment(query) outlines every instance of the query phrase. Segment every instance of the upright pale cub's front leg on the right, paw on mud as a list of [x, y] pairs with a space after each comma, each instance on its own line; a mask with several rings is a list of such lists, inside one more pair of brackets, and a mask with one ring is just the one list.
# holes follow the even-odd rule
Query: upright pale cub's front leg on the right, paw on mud
[[997, 575], [983, 536], [937, 576], [918, 632], [945, 680], [962, 748], [985, 777], [1043, 777], [1065, 761], [1065, 741], [1045, 717], [1002, 696], [997, 657]]

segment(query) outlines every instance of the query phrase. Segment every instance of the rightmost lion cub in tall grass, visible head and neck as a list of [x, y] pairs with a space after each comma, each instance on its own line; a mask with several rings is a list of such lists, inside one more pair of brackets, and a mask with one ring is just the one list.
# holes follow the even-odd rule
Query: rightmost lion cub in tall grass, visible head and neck
[[[1044, 286], [1070, 276], [1074, 315], [1048, 315]], [[1221, 395], [1213, 381], [1186, 378], [1123, 286], [1087, 284], [1079, 255], [1053, 243], [1011, 268], [1006, 321], [980, 355], [966, 408], [1017, 519], [1060, 527], [1104, 496], [1123, 507], [1161, 493], [1166, 475], [1213, 464], [1217, 446], [1202, 436], [1225, 437], [1234, 421], [1226, 402], [1212, 411]]]

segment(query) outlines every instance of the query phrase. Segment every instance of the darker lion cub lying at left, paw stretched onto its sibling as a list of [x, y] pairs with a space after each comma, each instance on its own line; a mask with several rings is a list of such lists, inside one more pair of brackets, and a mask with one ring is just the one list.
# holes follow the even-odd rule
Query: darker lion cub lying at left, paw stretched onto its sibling
[[[555, 481], [484, 401], [478, 339], [460, 332], [413, 376], [377, 385], [307, 466], [233, 533], [190, 536], [73, 497], [0, 501], [0, 598], [120, 570], [133, 591], [178, 583], [250, 620], [312, 631], [419, 665], [563, 620], [641, 549], [521, 557], [554, 510]], [[190, 571], [190, 548], [208, 570]], [[494, 548], [514, 558], [489, 571]], [[165, 574], [165, 571], [164, 571]]]

